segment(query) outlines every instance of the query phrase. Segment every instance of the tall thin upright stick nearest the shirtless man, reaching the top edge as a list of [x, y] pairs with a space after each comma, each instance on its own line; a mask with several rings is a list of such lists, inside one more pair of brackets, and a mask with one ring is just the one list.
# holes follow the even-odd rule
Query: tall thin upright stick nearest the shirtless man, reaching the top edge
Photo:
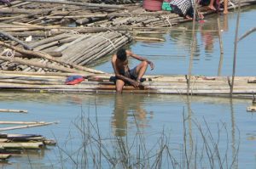
[[[194, 0], [191, 0], [191, 1], [194, 1]], [[193, 28], [192, 28], [192, 44], [191, 44], [190, 59], [189, 59], [189, 79], [188, 79], [187, 95], [189, 95], [191, 71], [192, 71], [192, 65], [193, 65], [193, 56], [194, 56], [194, 51], [195, 51], [195, 14], [196, 14], [196, 12], [197, 12], [197, 1], [195, 0], [194, 14], [193, 14]]]

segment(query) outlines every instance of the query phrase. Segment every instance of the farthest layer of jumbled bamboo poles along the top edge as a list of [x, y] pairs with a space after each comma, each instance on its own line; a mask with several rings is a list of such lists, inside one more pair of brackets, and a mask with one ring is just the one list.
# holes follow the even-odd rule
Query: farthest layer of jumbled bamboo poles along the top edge
[[[252, 3], [255, 3], [255, 0], [243, 0], [241, 1], [241, 6], [250, 5]], [[233, 5], [230, 4], [229, 6], [230, 9], [236, 7], [237, 3]], [[126, 10], [123, 10], [124, 8], [126, 8]], [[20, 5], [15, 4], [11, 8], [2, 7], [0, 13], [3, 14], [1, 18], [2, 23], [13, 23], [19, 20], [19, 22], [22, 23], [36, 25], [61, 25], [61, 23], [64, 24], [66, 20], [67, 23], [75, 21], [80, 25], [100, 22], [102, 25], [112, 26], [119, 24], [132, 26], [134, 24], [134, 26], [148, 25], [170, 27], [170, 25], [175, 25], [178, 22], [189, 21], [184, 20], [177, 14], [170, 14], [168, 11], [147, 12], [138, 4], [125, 6], [55, 0], [29, 0], [26, 1], [26, 3], [20, 3]], [[213, 11], [207, 11], [204, 14], [212, 13]], [[148, 16], [148, 18], [145, 19], [145, 16]], [[119, 21], [112, 21], [113, 18], [119, 17], [125, 18]], [[135, 19], [136, 17], [138, 17], [138, 19]]]

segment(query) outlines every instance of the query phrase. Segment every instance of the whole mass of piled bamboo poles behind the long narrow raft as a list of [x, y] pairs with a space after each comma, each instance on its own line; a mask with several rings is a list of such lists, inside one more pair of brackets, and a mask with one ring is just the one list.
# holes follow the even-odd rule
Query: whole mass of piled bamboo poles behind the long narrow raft
[[[255, 2], [256, 0], [242, 0], [241, 6]], [[20, 0], [11, 4], [10, 7], [0, 4], [1, 42], [8, 42], [15, 48], [48, 54], [62, 64], [69, 65], [90, 65], [132, 40], [164, 41], [148, 37], [148, 34], [186, 31], [174, 25], [191, 21], [169, 11], [148, 12], [142, 3], [117, 5], [90, 3], [86, 0]], [[237, 6], [237, 2], [229, 4], [229, 10]], [[204, 15], [214, 13], [203, 7], [200, 10]], [[2, 70], [62, 71], [44, 66], [58, 66], [59, 62], [56, 63], [55, 59], [20, 54], [7, 46], [0, 47], [0, 53], [5, 57], [0, 58]], [[11, 57], [19, 57], [19, 60], [15, 59], [14, 62]]]

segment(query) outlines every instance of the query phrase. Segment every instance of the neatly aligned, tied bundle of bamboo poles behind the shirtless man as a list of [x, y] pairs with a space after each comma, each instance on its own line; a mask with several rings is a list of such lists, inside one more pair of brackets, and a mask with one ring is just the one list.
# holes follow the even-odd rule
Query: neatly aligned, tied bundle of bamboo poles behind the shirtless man
[[61, 46], [55, 51], [61, 51], [62, 60], [77, 65], [87, 65], [96, 59], [112, 53], [118, 48], [131, 42], [130, 33], [107, 31], [94, 36], [83, 36], [68, 46]]

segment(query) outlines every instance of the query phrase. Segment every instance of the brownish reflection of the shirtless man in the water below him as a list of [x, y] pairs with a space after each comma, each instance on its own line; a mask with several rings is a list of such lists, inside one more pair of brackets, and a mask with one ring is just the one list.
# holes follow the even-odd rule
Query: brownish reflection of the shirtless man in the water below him
[[[143, 99], [143, 95], [115, 95], [112, 119], [112, 126], [115, 136], [126, 136], [129, 122], [135, 127], [143, 128], [147, 126], [148, 112], [144, 108], [145, 105], [143, 105]], [[151, 118], [152, 112], [150, 112], [150, 114]]]

